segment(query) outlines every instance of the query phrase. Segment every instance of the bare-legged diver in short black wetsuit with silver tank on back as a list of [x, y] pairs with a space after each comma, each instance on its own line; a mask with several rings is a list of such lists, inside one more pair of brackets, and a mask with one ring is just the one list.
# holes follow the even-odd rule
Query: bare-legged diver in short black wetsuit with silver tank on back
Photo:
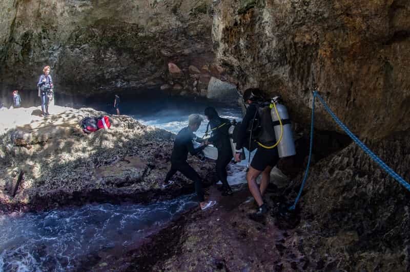
[[[260, 122], [260, 130], [258, 133], [258, 141], [264, 146], [271, 146], [276, 143], [275, 131], [272, 126], [272, 119], [268, 112], [269, 108], [261, 108], [258, 105], [258, 101], [262, 99], [260, 90], [256, 88], [250, 88], [243, 93], [243, 102], [247, 106], [245, 116], [239, 127], [238, 138], [236, 142], [235, 161], [240, 162], [240, 154], [242, 147], [246, 147], [247, 132], [251, 128], [251, 133], [255, 132], [254, 129], [258, 127], [254, 123], [255, 120]], [[253, 134], [256, 134], [253, 133]], [[248, 134], [249, 135], [249, 134]], [[258, 210], [255, 213], [249, 215], [249, 217], [255, 221], [260, 221], [264, 218], [264, 215], [268, 212], [268, 207], [263, 202], [263, 194], [265, 193], [269, 183], [272, 168], [278, 163], [279, 154], [277, 147], [264, 148], [258, 146], [256, 153], [252, 159], [251, 166], [247, 173], [247, 182], [249, 190], [255, 201], [258, 203]], [[256, 179], [262, 173], [262, 180], [260, 186], [257, 185]]]

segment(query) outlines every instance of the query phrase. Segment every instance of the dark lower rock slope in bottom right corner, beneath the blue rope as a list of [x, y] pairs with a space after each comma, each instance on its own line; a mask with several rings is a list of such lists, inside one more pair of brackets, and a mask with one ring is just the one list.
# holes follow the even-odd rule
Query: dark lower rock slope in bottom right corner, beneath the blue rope
[[[369, 146], [407, 181], [409, 135], [410, 131], [397, 132]], [[299, 176], [291, 184], [296, 185], [291, 199], [301, 180]], [[409, 200], [410, 192], [351, 144], [312, 169], [297, 228], [297, 233], [311, 235], [295, 240], [303, 254], [317, 248], [317, 256], [342, 260], [348, 271], [408, 271]], [[335, 269], [336, 263], [326, 270]]]

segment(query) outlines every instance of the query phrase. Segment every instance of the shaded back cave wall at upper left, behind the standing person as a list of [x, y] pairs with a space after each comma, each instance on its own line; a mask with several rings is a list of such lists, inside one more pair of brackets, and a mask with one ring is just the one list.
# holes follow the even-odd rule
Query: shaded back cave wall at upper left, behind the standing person
[[89, 96], [162, 86], [175, 94], [206, 96], [211, 76], [227, 80], [213, 64], [211, 3], [4, 1], [0, 88], [36, 89], [43, 67], [50, 65], [60, 93]]

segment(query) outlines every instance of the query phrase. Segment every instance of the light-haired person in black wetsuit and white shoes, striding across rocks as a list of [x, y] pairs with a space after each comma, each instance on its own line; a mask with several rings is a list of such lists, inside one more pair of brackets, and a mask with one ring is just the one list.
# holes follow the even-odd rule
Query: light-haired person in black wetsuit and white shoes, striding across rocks
[[202, 142], [201, 146], [194, 148], [192, 141], [196, 138], [193, 132], [197, 131], [201, 125], [202, 117], [198, 114], [193, 114], [188, 117], [188, 127], [184, 127], [176, 135], [174, 148], [171, 155], [171, 169], [168, 172], [162, 187], [168, 187], [173, 184], [170, 181], [171, 177], [177, 172], [181, 172], [183, 175], [194, 181], [195, 192], [199, 200], [199, 207], [201, 210], [208, 209], [216, 204], [216, 201], [205, 201], [202, 191], [202, 180], [198, 173], [187, 163], [188, 152], [191, 155], [198, 154], [202, 149], [207, 146], [206, 142]]

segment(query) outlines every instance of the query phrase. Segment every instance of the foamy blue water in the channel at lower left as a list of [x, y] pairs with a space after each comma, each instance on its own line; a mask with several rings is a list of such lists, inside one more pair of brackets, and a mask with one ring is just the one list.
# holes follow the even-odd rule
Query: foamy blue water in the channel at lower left
[[65, 271], [84, 257], [127, 247], [197, 206], [193, 195], [136, 204], [85, 205], [0, 216], [0, 271]]

